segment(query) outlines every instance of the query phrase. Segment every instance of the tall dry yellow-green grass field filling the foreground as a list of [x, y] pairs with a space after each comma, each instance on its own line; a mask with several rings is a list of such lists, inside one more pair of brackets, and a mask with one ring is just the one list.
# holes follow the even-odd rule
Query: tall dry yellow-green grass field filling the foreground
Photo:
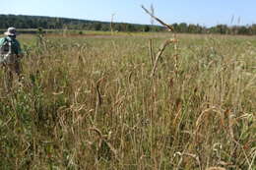
[[0, 169], [256, 168], [256, 37], [21, 35], [0, 72]]

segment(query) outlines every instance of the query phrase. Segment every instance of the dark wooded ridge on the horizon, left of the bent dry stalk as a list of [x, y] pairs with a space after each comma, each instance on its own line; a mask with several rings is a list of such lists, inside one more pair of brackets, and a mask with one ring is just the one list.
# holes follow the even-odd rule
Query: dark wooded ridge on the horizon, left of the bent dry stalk
[[83, 29], [83, 30], [117, 30], [117, 31], [160, 31], [160, 26], [135, 25], [128, 23], [109, 23], [89, 20], [23, 16], [23, 15], [0, 15], [0, 28], [10, 26], [15, 28], [44, 28], [44, 29]]

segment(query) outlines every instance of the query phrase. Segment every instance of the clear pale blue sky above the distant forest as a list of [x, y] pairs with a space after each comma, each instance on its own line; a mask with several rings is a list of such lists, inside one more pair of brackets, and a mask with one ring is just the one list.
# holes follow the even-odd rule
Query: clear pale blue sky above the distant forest
[[[0, 14], [151, 24], [141, 5], [165, 23], [202, 26], [256, 24], [256, 0], [1, 0]], [[233, 18], [233, 20], [232, 20]]]

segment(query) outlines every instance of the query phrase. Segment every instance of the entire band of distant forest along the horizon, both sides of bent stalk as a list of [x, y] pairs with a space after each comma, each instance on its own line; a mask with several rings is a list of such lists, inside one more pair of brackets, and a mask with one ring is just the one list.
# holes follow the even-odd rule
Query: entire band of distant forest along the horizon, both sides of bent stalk
[[[128, 23], [110, 23], [89, 20], [23, 16], [0, 15], [0, 28], [44, 28], [44, 29], [78, 29], [78, 30], [113, 30], [113, 31], [165, 31], [165, 28], [155, 25], [136, 25]], [[172, 24], [176, 32], [186, 33], [221, 33], [221, 34], [256, 34], [256, 25], [251, 26], [226, 26], [218, 25], [206, 28], [200, 25], [186, 23]]]

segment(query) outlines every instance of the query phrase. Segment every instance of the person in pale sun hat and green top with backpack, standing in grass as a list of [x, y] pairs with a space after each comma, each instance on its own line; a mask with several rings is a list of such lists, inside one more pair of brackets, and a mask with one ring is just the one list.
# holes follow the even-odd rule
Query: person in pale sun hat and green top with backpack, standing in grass
[[0, 64], [5, 71], [5, 87], [10, 90], [13, 76], [16, 74], [21, 81], [20, 59], [23, 57], [20, 42], [16, 39], [16, 28], [8, 28], [5, 37], [0, 38]]

